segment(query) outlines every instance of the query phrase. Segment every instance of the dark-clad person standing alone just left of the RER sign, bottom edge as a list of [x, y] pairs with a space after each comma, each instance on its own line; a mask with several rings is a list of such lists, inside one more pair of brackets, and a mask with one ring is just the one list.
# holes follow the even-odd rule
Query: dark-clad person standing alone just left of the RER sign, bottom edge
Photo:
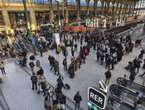
[[75, 110], [80, 110], [80, 102], [82, 101], [82, 97], [79, 91], [77, 91], [77, 93], [75, 94], [74, 101], [75, 101]]

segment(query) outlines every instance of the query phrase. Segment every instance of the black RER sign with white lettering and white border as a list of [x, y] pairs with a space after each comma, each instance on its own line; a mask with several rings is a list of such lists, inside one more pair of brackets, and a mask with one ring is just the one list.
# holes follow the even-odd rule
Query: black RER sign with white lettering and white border
[[105, 109], [106, 95], [93, 87], [88, 88], [88, 100], [100, 109]]

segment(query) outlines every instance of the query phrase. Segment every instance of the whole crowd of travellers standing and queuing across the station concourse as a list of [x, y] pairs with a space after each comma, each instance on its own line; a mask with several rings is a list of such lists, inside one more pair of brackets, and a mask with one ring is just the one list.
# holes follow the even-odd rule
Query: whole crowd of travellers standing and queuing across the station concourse
[[[17, 34], [19, 40], [22, 38], [21, 33]], [[42, 38], [38, 40], [38, 34], [32, 36], [31, 44], [33, 54], [29, 60], [27, 59], [27, 51], [17, 53], [17, 59], [19, 64], [23, 67], [29, 64], [31, 69], [31, 82], [32, 90], [36, 90], [39, 94], [44, 95], [44, 107], [46, 110], [65, 110], [67, 104], [67, 97], [63, 94], [63, 89], [69, 90], [71, 87], [68, 84], [64, 84], [64, 78], [61, 75], [60, 65], [63, 65], [64, 71], [69, 75], [70, 78], [75, 78], [75, 74], [78, 69], [85, 63], [87, 63], [87, 57], [91, 51], [96, 53], [96, 62], [104, 66], [107, 71], [104, 73], [105, 84], [108, 85], [112, 77], [111, 70], [115, 68], [115, 65], [122, 61], [122, 57], [133, 51], [134, 47], [141, 45], [141, 41], [135, 43], [131, 40], [131, 36], [120, 36], [117, 37], [113, 33], [98, 34], [96, 32], [87, 33], [60, 33], [60, 44], [57, 45], [55, 41], [53, 44], [44, 41]], [[15, 42], [19, 41], [15, 40]], [[2, 46], [3, 48], [9, 49], [8, 47]], [[55, 49], [56, 54], [63, 55], [62, 64], [53, 56], [48, 56], [50, 64], [50, 70], [54, 71], [54, 74], [58, 76], [56, 87], [49, 85], [45, 76], [43, 67], [39, 60], [36, 59], [35, 55], [37, 51], [40, 52], [40, 56], [43, 57], [43, 53]], [[68, 51], [70, 49], [70, 51]], [[5, 49], [4, 49], [5, 50]], [[25, 49], [24, 49], [25, 50]], [[9, 52], [14, 51], [10, 49]], [[69, 63], [69, 52], [71, 54], [71, 62]], [[138, 57], [133, 61], [130, 61], [125, 69], [130, 72], [130, 84], [133, 83], [135, 76], [139, 72], [141, 63], [144, 62], [143, 68], [145, 69], [145, 59], [143, 55], [145, 50], [142, 49]], [[1, 52], [0, 52], [1, 55]], [[29, 62], [28, 62], [29, 61]], [[0, 63], [0, 69], [2, 74], [5, 75], [4, 62]], [[145, 72], [140, 76], [143, 77]], [[80, 109], [80, 102], [82, 97], [77, 91], [74, 96], [75, 110]]]

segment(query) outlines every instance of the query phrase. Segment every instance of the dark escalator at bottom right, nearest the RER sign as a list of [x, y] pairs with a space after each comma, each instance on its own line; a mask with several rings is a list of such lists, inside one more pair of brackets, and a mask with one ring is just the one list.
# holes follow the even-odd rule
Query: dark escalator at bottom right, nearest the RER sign
[[137, 97], [130, 89], [113, 84], [109, 89], [107, 110], [133, 110]]

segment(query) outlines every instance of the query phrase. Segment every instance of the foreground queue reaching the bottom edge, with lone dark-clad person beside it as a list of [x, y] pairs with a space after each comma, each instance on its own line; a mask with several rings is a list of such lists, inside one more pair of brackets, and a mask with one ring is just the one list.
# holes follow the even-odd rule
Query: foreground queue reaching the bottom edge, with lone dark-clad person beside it
[[[51, 56], [52, 57], [52, 56]], [[53, 59], [55, 60], [55, 59]], [[46, 110], [65, 110], [67, 100], [63, 94], [62, 89], [70, 89], [68, 84], [64, 84], [63, 77], [58, 74], [56, 87], [48, 84], [47, 78], [44, 75], [44, 70], [39, 60], [36, 60], [35, 56], [30, 56], [29, 66], [32, 71], [31, 82], [32, 90], [37, 93], [42, 93], [44, 98], [44, 107]], [[79, 91], [74, 96], [75, 110], [80, 108], [80, 102], [82, 98], [79, 95]]]

